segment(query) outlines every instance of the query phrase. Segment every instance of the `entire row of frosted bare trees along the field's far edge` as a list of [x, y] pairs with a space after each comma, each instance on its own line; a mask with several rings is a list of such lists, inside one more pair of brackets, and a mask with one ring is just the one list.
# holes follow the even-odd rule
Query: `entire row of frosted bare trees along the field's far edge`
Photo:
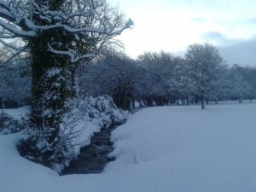
[[253, 99], [256, 68], [225, 65], [212, 44], [192, 44], [184, 58], [166, 52], [146, 52], [132, 60], [107, 51], [79, 73], [82, 94], [113, 97], [119, 108], [135, 102], [153, 106], [218, 100]]

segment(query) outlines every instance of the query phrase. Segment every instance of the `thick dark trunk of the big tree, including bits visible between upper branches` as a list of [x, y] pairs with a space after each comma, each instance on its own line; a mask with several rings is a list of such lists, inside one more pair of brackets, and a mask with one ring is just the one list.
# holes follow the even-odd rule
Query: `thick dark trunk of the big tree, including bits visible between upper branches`
[[[58, 10], [64, 0], [49, 1], [50, 10]], [[36, 3], [41, 3], [37, 0]], [[44, 26], [45, 20], [32, 15], [32, 20]], [[49, 44], [57, 49], [67, 50], [67, 44], [73, 39], [73, 34], [63, 29], [52, 29], [38, 32], [38, 36], [28, 39], [32, 56], [32, 113], [30, 123], [32, 127], [43, 131], [44, 137], [54, 148], [55, 138], [58, 137], [63, 114], [66, 113], [65, 102], [72, 96], [68, 87], [67, 57], [53, 54], [49, 51]], [[60, 44], [61, 42], [61, 44]], [[45, 132], [47, 134], [45, 134]]]

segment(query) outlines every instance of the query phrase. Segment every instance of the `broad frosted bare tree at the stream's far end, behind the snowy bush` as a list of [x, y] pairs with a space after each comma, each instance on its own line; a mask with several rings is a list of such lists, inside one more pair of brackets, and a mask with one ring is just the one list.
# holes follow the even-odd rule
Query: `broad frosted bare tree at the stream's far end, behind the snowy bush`
[[119, 108], [129, 110], [137, 92], [138, 73], [134, 60], [118, 50], [108, 50], [79, 75], [81, 92], [108, 94]]

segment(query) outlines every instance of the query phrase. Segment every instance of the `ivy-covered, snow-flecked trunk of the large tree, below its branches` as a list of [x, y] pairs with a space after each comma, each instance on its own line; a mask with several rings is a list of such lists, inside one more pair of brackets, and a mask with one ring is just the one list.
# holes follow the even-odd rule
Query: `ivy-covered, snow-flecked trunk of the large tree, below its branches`
[[[50, 34], [33, 38], [32, 55], [32, 113], [31, 125], [44, 131], [49, 144], [60, 131], [65, 101], [71, 96], [67, 84], [67, 58], [48, 51]], [[46, 131], [47, 130], [47, 131]], [[46, 132], [45, 132], [46, 131]]]

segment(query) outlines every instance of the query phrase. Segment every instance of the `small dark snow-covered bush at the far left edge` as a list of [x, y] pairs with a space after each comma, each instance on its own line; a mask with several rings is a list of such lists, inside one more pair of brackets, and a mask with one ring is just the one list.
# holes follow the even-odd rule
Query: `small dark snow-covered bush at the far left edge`
[[26, 128], [25, 117], [21, 119], [15, 119], [3, 111], [0, 112], [0, 135], [8, 135], [15, 133]]

